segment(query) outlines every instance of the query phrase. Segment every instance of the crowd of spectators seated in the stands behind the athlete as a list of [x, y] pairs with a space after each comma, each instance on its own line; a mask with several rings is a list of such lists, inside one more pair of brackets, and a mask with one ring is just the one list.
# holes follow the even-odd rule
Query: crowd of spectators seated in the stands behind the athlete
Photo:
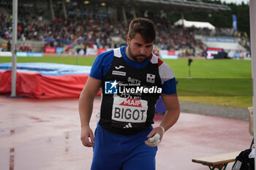
[[[97, 20], [91, 18], [92, 15], [69, 15], [67, 19], [58, 16], [52, 23], [42, 24], [42, 18], [40, 18], [42, 17], [42, 13], [38, 11], [36, 12], [37, 15], [31, 15], [26, 9], [20, 7], [18, 15], [18, 39], [22, 41], [32, 39], [42, 41], [42, 39], [52, 36], [57, 40], [56, 44], [59, 47], [71, 44], [74, 39], [82, 39], [83, 44], [86, 46], [94, 46], [96, 44], [97, 48], [117, 46], [111, 40], [111, 36], [126, 39], [127, 28], [124, 27], [124, 24], [119, 23], [118, 20], [99, 18], [99, 15], [97, 15]], [[208, 28], [174, 27], [170, 20], [165, 19], [164, 11], [159, 12], [159, 16], [157, 16], [151, 15], [148, 17], [156, 20], [157, 37], [154, 43], [159, 49], [189, 49], [194, 52], [197, 49], [202, 51], [205, 48], [203, 42], [196, 40], [193, 36], [195, 34], [203, 36], [240, 36], [242, 39], [240, 42], [241, 45], [247, 50], [250, 49], [247, 35], [233, 31], [233, 29], [216, 28], [212, 31]], [[3, 13], [0, 15], [0, 36], [7, 40], [11, 39], [12, 36], [12, 20], [10, 17], [5, 16]]]

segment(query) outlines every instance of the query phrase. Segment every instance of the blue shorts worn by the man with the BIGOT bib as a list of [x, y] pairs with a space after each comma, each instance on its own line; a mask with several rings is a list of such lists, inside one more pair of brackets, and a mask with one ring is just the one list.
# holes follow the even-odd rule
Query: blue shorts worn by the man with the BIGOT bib
[[94, 156], [91, 170], [154, 170], [157, 147], [144, 141], [152, 126], [133, 135], [114, 134], [99, 124], [95, 130]]

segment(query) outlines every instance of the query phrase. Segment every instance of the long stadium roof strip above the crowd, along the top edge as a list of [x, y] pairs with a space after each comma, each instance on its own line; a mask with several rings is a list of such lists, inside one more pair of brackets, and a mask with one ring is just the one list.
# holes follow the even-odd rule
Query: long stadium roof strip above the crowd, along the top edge
[[[23, 0], [19, 1], [19, 4], [30, 4], [33, 5], [34, 1], [39, 0]], [[53, 4], [61, 3], [61, 1], [67, 0], [54, 0]], [[84, 4], [85, 0], [69, 0], [69, 2], [78, 2], [78, 4]], [[89, 4], [101, 4], [104, 2], [108, 6], [119, 6], [123, 5], [124, 7], [135, 7], [140, 9], [165, 9], [166, 11], [227, 11], [230, 10], [230, 7], [224, 4], [214, 4], [214, 3], [206, 3], [202, 0], [87, 0]], [[48, 2], [45, 2], [47, 4]], [[4, 4], [12, 4], [10, 0], [1, 0], [1, 5]]]

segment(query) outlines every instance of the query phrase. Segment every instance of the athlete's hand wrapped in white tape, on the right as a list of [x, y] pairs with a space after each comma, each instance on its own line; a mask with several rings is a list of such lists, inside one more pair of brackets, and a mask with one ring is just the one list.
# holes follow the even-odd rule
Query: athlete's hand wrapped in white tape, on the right
[[162, 137], [164, 136], [165, 128], [162, 126], [158, 126], [157, 128], [154, 128], [149, 134], [148, 134], [148, 140], [145, 141], [145, 144], [148, 145], [148, 147], [156, 147], [161, 141]]

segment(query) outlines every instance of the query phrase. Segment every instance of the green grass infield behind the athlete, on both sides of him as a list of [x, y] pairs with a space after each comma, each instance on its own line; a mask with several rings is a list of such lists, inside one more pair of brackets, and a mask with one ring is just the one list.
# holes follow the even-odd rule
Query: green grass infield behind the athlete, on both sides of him
[[[18, 57], [18, 63], [45, 62], [91, 66], [95, 58], [82, 57]], [[178, 80], [177, 90], [181, 101], [218, 104], [232, 107], [252, 106], [251, 61], [194, 59], [190, 70], [187, 59], [164, 60], [173, 69]], [[0, 57], [0, 63], [12, 62]]]

